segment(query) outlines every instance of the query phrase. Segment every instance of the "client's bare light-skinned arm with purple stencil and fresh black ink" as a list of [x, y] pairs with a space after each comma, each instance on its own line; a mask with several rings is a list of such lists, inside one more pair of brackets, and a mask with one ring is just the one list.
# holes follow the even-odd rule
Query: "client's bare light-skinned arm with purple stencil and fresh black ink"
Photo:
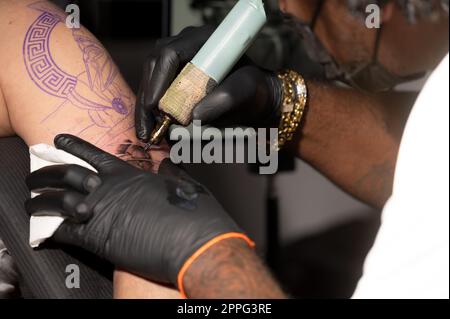
[[[134, 134], [135, 96], [86, 29], [68, 29], [45, 1], [0, 1], [0, 137], [52, 144], [70, 133], [141, 169], [156, 172], [166, 147], [146, 152]], [[178, 291], [124, 271], [116, 298], [179, 298]]]

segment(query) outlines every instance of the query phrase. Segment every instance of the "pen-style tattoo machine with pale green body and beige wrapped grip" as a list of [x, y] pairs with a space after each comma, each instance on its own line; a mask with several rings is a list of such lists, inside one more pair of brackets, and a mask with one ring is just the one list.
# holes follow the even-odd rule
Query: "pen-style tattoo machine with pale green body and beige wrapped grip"
[[266, 21], [262, 0], [238, 1], [159, 102], [164, 118], [150, 145], [159, 144], [173, 122], [191, 123], [195, 106], [228, 75]]

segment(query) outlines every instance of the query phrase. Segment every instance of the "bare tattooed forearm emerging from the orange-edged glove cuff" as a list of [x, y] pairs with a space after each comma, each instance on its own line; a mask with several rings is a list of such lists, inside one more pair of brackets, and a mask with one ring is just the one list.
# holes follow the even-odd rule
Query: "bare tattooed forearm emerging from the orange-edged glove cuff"
[[262, 261], [241, 239], [216, 244], [186, 272], [184, 285], [190, 298], [285, 298]]

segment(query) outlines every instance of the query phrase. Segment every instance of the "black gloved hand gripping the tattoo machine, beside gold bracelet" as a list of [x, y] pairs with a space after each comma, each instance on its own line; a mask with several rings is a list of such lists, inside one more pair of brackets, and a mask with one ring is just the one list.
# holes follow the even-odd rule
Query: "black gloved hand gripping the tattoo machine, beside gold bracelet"
[[[160, 40], [144, 66], [136, 104], [136, 134], [148, 142], [155, 127], [152, 113], [182, 68], [208, 40], [213, 28], [187, 28], [179, 35]], [[282, 104], [282, 84], [276, 74], [256, 67], [243, 58], [234, 72], [193, 111], [203, 124], [278, 126]]]

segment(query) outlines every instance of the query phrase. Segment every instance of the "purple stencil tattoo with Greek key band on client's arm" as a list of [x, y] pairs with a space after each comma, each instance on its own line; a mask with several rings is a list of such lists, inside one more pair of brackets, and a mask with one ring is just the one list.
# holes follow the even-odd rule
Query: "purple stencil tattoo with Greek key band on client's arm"
[[108, 129], [107, 134], [111, 137], [132, 129], [131, 125], [123, 126], [132, 116], [132, 97], [115, 82], [119, 71], [104, 48], [88, 32], [72, 29], [73, 39], [83, 55], [85, 71], [78, 75], [68, 74], [55, 63], [50, 51], [52, 31], [59, 23], [64, 23], [65, 15], [42, 1], [28, 7], [42, 13], [26, 33], [24, 63], [38, 88], [64, 99], [54, 113], [66, 103], [86, 110], [91, 123], [78, 134], [91, 127], [100, 127]]

